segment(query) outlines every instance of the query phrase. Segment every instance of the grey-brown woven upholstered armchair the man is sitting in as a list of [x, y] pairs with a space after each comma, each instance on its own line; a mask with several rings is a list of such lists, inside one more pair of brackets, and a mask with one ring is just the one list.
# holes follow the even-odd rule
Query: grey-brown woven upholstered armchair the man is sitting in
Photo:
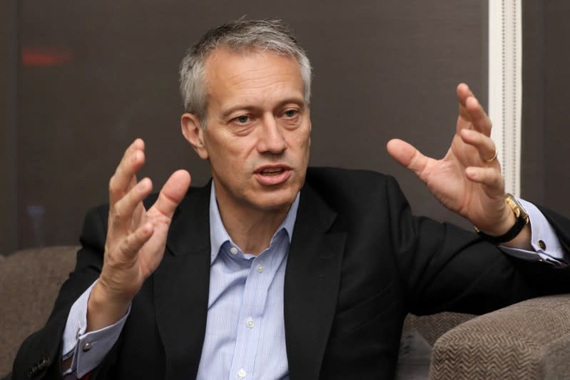
[[[25, 337], [46, 321], [77, 248], [0, 256], [0, 376], [11, 370]], [[400, 353], [399, 379], [427, 379], [428, 369], [429, 379], [570, 379], [570, 294], [474, 318], [409, 316]]]

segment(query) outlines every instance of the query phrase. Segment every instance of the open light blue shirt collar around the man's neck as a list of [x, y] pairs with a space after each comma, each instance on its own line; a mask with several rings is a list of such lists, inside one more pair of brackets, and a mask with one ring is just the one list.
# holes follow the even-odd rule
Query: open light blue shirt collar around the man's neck
[[[291, 242], [293, 236], [293, 227], [295, 227], [295, 220], [297, 220], [299, 195], [300, 192], [297, 192], [297, 196], [295, 197], [295, 200], [293, 200], [289, 212], [287, 212], [285, 220], [283, 220], [278, 229], [275, 230], [273, 237], [275, 237], [275, 235], [277, 235], [280, 230], [285, 229], [287, 232], [287, 237], [289, 238], [289, 242]], [[220, 210], [218, 209], [218, 202], [215, 198], [214, 181], [212, 181], [212, 185], [210, 187], [210, 246], [212, 247], [210, 265], [214, 262], [215, 258], [218, 257], [218, 253], [220, 252], [222, 245], [228, 241], [233, 244], [230, 235], [228, 235], [228, 231], [225, 230], [225, 227], [223, 225], [222, 217], [220, 216]]]

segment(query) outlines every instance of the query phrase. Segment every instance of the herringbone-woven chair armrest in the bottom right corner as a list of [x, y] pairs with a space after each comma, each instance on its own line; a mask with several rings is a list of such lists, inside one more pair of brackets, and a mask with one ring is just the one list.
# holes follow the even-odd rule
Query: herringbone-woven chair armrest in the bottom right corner
[[570, 294], [528, 299], [437, 339], [429, 379], [567, 379]]

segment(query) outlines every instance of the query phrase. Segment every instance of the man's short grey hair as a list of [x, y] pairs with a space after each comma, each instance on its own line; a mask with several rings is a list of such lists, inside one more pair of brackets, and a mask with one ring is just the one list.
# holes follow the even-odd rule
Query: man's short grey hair
[[280, 20], [235, 20], [210, 29], [197, 43], [188, 48], [180, 63], [180, 93], [184, 108], [200, 119], [205, 128], [208, 103], [205, 88], [205, 61], [216, 48], [233, 51], [263, 50], [280, 56], [295, 57], [305, 86], [305, 103], [310, 103], [311, 64], [289, 26]]

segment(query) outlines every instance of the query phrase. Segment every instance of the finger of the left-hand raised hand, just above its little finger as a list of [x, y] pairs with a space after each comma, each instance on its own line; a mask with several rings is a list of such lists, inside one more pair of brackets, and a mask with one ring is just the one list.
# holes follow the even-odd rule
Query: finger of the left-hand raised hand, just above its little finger
[[[142, 207], [143, 199], [153, 190], [153, 183], [148, 178], [143, 178], [136, 186], [131, 188], [125, 196], [118, 200], [110, 211], [114, 230], [124, 229], [132, 225], [138, 225], [136, 207]], [[142, 209], [141, 209], [142, 210]]]

